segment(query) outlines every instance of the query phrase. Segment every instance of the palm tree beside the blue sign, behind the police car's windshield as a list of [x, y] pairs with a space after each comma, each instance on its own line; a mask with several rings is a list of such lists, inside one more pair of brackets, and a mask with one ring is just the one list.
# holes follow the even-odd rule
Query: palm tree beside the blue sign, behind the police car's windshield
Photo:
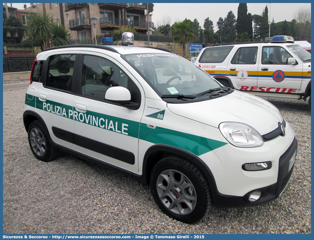
[[180, 43], [185, 56], [185, 47], [188, 42], [192, 42], [196, 35], [196, 31], [192, 28], [194, 22], [191, 20], [184, 20], [172, 25], [172, 38], [176, 43]]

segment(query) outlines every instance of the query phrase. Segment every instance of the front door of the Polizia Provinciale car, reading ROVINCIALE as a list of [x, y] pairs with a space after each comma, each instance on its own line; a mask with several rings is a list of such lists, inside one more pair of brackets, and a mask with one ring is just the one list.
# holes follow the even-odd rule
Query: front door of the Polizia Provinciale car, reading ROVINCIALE
[[[144, 109], [142, 87], [121, 63], [107, 55], [82, 51], [79, 62], [80, 81], [73, 101], [78, 150], [138, 172], [138, 134]], [[138, 109], [106, 101], [106, 91], [114, 86], [130, 90], [131, 101], [138, 103]]]

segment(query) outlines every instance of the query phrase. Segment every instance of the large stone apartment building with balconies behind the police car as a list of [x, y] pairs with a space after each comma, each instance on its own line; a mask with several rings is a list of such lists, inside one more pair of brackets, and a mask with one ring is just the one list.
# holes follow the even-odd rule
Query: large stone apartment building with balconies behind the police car
[[[154, 4], [148, 4], [149, 13]], [[147, 3], [39, 3], [36, 11], [52, 15], [51, 21], [62, 24], [69, 29], [72, 41], [94, 42], [94, 26], [91, 18], [95, 15], [96, 35], [111, 33], [119, 27], [133, 27], [140, 34], [147, 34], [147, 16], [149, 27], [154, 23], [151, 16], [145, 15]]]

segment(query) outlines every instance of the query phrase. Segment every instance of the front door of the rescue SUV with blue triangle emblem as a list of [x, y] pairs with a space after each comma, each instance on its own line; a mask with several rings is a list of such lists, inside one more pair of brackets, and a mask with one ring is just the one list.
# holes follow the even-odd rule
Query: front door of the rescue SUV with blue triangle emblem
[[263, 46], [258, 67], [257, 86], [260, 91], [297, 93], [302, 82], [302, 63], [288, 65], [291, 54], [282, 46]]

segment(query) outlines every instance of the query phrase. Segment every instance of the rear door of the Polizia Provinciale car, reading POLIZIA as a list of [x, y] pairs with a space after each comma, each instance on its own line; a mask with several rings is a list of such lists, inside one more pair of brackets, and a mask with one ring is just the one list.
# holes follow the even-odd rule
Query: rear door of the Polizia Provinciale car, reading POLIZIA
[[76, 81], [77, 52], [54, 52], [44, 63], [46, 80], [37, 91], [36, 111], [44, 119], [53, 141], [69, 148], [73, 143], [67, 141], [64, 131], [74, 134], [73, 85]]

